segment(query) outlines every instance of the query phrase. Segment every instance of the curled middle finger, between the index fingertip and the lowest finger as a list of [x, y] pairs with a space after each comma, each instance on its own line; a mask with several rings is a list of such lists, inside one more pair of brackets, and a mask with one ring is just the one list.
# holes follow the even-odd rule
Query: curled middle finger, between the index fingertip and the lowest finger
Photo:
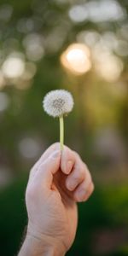
[[82, 160], [80, 160], [79, 157], [76, 157], [76, 163], [73, 167], [73, 171], [67, 176], [66, 179], [67, 189], [70, 191], [76, 189], [76, 187], [79, 186], [79, 183], [84, 181], [86, 176], [88, 177]]

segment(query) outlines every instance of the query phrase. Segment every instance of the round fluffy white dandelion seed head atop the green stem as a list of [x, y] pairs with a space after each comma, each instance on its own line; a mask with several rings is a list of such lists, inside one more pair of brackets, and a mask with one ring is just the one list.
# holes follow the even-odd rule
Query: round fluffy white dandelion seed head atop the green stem
[[43, 105], [50, 116], [67, 115], [73, 109], [73, 96], [67, 90], [51, 90], [44, 96]]

